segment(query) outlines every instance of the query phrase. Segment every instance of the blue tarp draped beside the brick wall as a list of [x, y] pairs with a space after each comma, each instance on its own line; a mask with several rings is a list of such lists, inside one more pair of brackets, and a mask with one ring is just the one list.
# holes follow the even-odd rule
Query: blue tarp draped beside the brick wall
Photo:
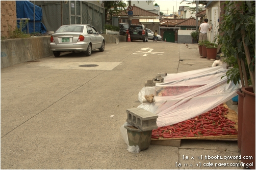
[[[42, 9], [35, 5], [35, 30], [34, 30], [34, 4], [29, 1], [16, 1], [17, 27], [20, 28], [20, 20], [18, 18], [30, 18], [29, 33], [40, 32], [45, 33], [46, 27], [42, 21]], [[22, 31], [28, 32], [28, 24], [22, 21]]]

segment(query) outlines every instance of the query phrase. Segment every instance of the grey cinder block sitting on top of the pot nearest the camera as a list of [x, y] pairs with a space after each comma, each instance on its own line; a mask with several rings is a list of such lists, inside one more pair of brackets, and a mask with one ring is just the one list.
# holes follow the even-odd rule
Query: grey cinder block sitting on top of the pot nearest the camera
[[158, 128], [157, 126], [158, 115], [155, 115], [141, 108], [127, 109], [126, 113], [127, 113], [126, 122], [141, 129], [142, 131]]

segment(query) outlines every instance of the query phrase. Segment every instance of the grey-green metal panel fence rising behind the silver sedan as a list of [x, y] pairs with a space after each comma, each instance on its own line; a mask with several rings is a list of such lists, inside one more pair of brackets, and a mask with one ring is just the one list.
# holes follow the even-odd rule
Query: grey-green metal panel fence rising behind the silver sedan
[[[61, 25], [91, 24], [98, 31], [105, 30], [105, 9], [85, 1], [31, 1], [42, 8], [42, 23], [47, 31]], [[97, 2], [97, 1], [95, 1]]]

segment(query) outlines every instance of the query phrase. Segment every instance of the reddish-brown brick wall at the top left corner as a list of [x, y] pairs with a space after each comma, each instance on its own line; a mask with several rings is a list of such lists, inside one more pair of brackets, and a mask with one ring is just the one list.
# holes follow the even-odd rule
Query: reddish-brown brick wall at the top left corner
[[16, 26], [16, 1], [1, 1], [1, 37], [10, 37]]

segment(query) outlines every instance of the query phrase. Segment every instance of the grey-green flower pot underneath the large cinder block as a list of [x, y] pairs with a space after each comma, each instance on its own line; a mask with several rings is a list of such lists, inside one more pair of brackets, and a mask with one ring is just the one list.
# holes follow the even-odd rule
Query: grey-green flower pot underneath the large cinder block
[[138, 145], [140, 150], [147, 149], [151, 142], [152, 130], [142, 131], [135, 126], [124, 126], [127, 129], [130, 146]]

